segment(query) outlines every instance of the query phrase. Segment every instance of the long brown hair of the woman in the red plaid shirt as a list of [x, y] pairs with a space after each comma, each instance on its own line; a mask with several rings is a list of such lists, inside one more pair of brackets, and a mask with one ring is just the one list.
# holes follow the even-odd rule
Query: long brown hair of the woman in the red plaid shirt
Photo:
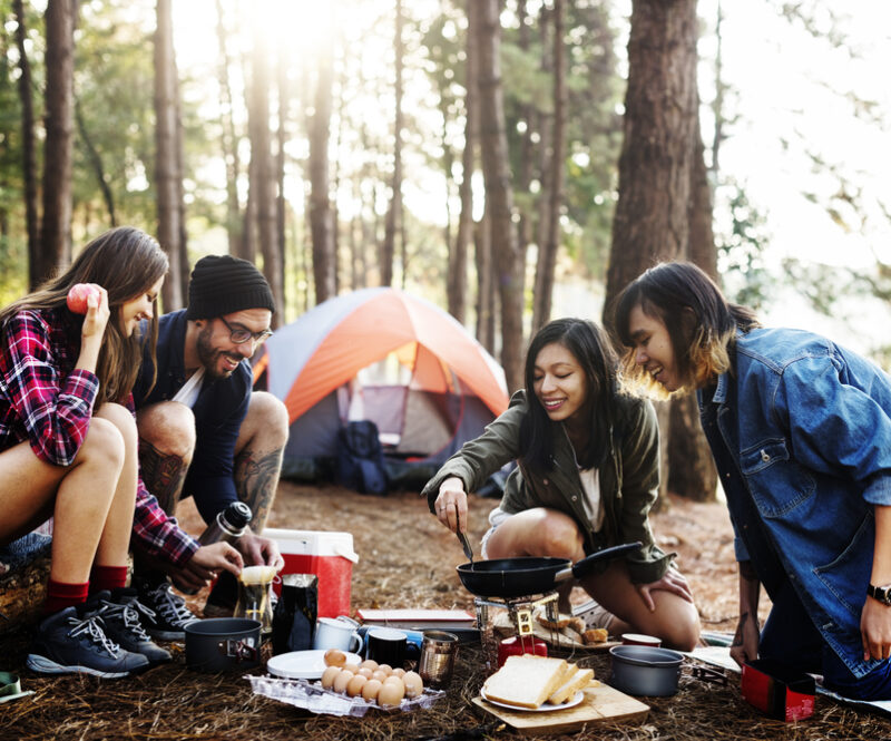
[[[155, 358], [158, 302], [156, 300], [153, 305], [148, 331], [145, 335], [140, 335], [137, 331], [133, 337], [126, 337], [121, 331], [120, 305], [148, 291], [167, 273], [167, 255], [154, 237], [134, 226], [119, 226], [100, 234], [84, 247], [71, 266], [61, 275], [48, 280], [32, 293], [13, 301], [0, 311], [0, 325], [26, 309], [62, 309], [66, 305], [68, 290], [75, 283], [101, 285], [108, 293], [110, 316], [96, 367], [99, 398], [102, 401], [123, 403], [136, 383], [145, 342], [149, 343], [151, 358]], [[79, 339], [84, 318], [68, 311], [61, 314], [70, 322], [71, 334]]]

